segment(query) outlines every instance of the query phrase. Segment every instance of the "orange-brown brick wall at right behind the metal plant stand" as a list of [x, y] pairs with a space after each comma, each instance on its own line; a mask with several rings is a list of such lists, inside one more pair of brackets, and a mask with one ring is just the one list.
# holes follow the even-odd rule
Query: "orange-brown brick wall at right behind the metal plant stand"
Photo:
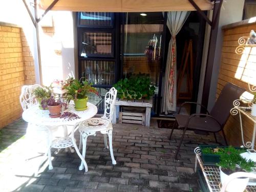
[[[222, 47], [222, 59], [221, 69], [219, 73], [218, 86], [217, 86], [217, 97], [220, 94], [223, 86], [227, 82], [237, 84], [239, 87], [248, 90], [247, 76], [250, 72], [251, 67], [256, 70], [256, 47], [252, 48], [250, 54], [243, 53], [241, 55], [236, 54], [235, 50], [238, 47], [238, 39], [242, 36], [249, 36], [250, 30], [256, 29], [256, 24], [238, 25], [231, 26], [224, 29], [223, 47]], [[248, 57], [247, 65], [245, 64], [245, 57]], [[244, 63], [244, 64], [243, 64]], [[238, 71], [243, 71], [242, 74], [238, 74]], [[239, 117], [229, 117], [224, 131], [227, 136], [229, 144], [241, 145], [241, 131], [240, 131]], [[242, 115], [242, 123], [244, 126], [244, 139], [245, 141], [251, 141], [253, 123]]]

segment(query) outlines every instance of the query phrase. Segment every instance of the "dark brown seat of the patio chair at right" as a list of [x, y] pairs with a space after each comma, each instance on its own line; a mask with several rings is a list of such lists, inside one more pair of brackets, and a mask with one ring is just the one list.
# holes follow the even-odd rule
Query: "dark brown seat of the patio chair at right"
[[[189, 118], [189, 115], [176, 115], [176, 121], [179, 125], [179, 128], [185, 127], [186, 122]], [[200, 131], [209, 131], [209, 132], [218, 132], [221, 130], [221, 127], [216, 120], [210, 117], [192, 117], [188, 123], [188, 129], [200, 130]]]

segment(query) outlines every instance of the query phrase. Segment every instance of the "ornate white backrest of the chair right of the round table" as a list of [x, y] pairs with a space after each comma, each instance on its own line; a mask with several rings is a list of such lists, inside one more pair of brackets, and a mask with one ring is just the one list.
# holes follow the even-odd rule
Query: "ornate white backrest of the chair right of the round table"
[[112, 116], [115, 108], [116, 94], [117, 90], [115, 88], [111, 88], [110, 91], [106, 92], [105, 94], [105, 110], [102, 118], [109, 120], [109, 122], [112, 121]]

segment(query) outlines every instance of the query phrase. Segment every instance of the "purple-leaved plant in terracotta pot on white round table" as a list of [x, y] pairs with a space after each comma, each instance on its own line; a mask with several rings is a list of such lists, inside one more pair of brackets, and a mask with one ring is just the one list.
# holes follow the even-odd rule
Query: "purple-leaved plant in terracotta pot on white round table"
[[65, 105], [65, 108], [67, 107], [66, 103], [63, 103], [61, 101], [56, 101], [53, 96], [50, 98], [42, 99], [41, 106], [43, 109], [48, 108], [50, 112], [50, 117], [56, 118], [60, 116], [60, 111], [62, 105]]

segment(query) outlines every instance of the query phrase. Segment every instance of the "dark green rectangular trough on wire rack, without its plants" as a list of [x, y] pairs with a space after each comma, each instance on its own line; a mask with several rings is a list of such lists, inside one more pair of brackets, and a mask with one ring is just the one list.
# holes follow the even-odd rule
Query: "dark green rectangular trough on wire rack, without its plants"
[[[201, 150], [201, 158], [203, 160], [204, 165], [216, 165], [216, 163], [220, 162], [220, 155], [214, 155], [214, 154], [204, 154], [203, 149], [204, 148], [226, 148], [228, 146], [219, 146], [219, 145], [199, 145], [200, 150]], [[241, 150], [241, 147], [234, 147], [237, 150]]]

